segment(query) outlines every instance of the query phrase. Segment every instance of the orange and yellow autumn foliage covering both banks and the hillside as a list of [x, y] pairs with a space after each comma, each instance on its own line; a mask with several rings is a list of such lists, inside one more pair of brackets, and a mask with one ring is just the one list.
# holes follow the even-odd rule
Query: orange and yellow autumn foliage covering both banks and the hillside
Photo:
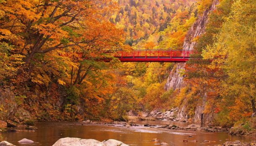
[[[127, 120], [126, 113], [197, 106], [212, 123], [255, 109], [255, 4], [220, 0], [184, 86], [164, 90], [175, 63], [120, 63], [105, 50], [181, 50], [212, 0], [0, 0], [0, 120]], [[104, 59], [111, 60], [109, 63]], [[248, 122], [247, 122], [248, 123]]]

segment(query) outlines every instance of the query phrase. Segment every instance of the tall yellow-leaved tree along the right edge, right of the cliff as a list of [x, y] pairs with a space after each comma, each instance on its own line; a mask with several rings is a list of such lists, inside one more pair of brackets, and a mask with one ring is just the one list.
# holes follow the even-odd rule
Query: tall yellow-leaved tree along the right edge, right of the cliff
[[231, 10], [216, 42], [204, 50], [203, 57], [212, 59], [211, 68], [217, 66], [227, 74], [223, 96], [251, 101], [255, 113], [255, 5], [253, 0], [238, 0]]

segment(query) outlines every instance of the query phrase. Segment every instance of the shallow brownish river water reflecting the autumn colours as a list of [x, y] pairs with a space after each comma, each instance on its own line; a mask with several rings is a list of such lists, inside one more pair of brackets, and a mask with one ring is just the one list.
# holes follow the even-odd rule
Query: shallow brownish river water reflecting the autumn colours
[[[134, 121], [144, 124], [176, 124], [186, 126], [189, 123], [171, 121]], [[225, 141], [252, 141], [255, 139], [244, 136], [230, 136], [227, 133], [208, 133], [202, 131], [177, 131], [165, 128], [150, 128], [144, 126], [106, 126], [101, 124], [81, 124], [79, 122], [44, 122], [36, 123], [38, 128], [34, 132], [18, 131], [12, 133], [2, 133], [6, 141], [16, 146], [52, 146], [59, 138], [77, 137], [84, 139], [96, 139], [103, 141], [106, 139], [116, 139], [129, 146], [155, 146], [159, 142], [151, 141], [158, 138], [169, 143], [168, 146], [214, 146]], [[189, 135], [193, 137], [189, 137]], [[27, 138], [33, 140], [33, 144], [19, 144], [17, 141]], [[198, 142], [183, 142], [183, 140], [197, 140]], [[204, 140], [215, 141], [204, 143]]]

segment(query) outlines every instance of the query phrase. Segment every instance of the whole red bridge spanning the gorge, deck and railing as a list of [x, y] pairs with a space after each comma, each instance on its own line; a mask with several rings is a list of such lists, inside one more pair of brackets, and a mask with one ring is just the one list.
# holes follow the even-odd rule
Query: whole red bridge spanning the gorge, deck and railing
[[119, 50], [106, 51], [121, 62], [186, 62], [192, 50]]

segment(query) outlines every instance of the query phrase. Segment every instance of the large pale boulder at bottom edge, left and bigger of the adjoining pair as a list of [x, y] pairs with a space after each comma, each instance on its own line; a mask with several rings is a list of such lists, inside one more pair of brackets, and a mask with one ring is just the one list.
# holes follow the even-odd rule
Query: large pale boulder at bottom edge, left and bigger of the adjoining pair
[[81, 139], [81, 138], [60, 138], [52, 146], [105, 146], [100, 141], [95, 139]]

